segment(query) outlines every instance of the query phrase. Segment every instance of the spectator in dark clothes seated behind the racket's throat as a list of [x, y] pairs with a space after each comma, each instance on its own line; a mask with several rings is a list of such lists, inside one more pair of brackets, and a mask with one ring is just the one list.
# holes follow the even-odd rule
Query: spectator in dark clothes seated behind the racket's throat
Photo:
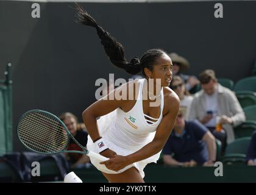
[[[66, 112], [62, 113], [59, 118], [63, 121], [65, 126], [68, 128], [69, 132], [73, 137], [82, 145], [87, 145], [87, 137], [88, 133], [85, 131], [84, 124], [79, 124], [77, 121], [77, 117], [72, 113]], [[68, 147], [68, 151], [82, 151], [82, 149], [72, 140], [70, 139]], [[76, 154], [76, 153], [65, 153], [66, 158], [69, 162], [71, 168], [83, 168], [87, 167], [90, 158], [87, 155]]]

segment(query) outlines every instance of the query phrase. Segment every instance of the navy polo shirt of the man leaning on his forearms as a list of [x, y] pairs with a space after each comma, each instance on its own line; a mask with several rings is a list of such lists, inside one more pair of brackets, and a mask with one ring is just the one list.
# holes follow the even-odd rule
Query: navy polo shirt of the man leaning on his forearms
[[202, 137], [208, 131], [199, 121], [185, 121], [185, 133], [177, 137], [174, 130], [163, 147], [163, 155], [174, 154], [173, 158], [180, 162], [194, 160], [198, 165], [208, 161], [208, 151]]

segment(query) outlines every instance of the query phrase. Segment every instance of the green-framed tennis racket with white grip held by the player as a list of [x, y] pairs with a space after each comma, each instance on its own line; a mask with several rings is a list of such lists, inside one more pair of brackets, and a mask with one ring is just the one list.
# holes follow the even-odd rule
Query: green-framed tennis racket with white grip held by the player
[[[17, 127], [18, 138], [30, 151], [40, 154], [57, 154], [71, 152], [86, 154], [88, 157], [100, 161], [108, 158], [88, 151], [71, 135], [65, 124], [52, 113], [43, 110], [29, 110], [21, 116]], [[67, 151], [69, 139], [83, 149], [83, 151]]]

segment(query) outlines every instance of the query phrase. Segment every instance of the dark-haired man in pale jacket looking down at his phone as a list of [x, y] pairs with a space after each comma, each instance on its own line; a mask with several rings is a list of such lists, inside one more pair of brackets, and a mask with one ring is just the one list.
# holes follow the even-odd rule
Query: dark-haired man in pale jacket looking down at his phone
[[212, 69], [203, 71], [199, 80], [202, 90], [194, 94], [188, 116], [202, 122], [221, 141], [223, 153], [226, 144], [235, 140], [233, 126], [245, 121], [244, 112], [233, 91], [218, 83]]

